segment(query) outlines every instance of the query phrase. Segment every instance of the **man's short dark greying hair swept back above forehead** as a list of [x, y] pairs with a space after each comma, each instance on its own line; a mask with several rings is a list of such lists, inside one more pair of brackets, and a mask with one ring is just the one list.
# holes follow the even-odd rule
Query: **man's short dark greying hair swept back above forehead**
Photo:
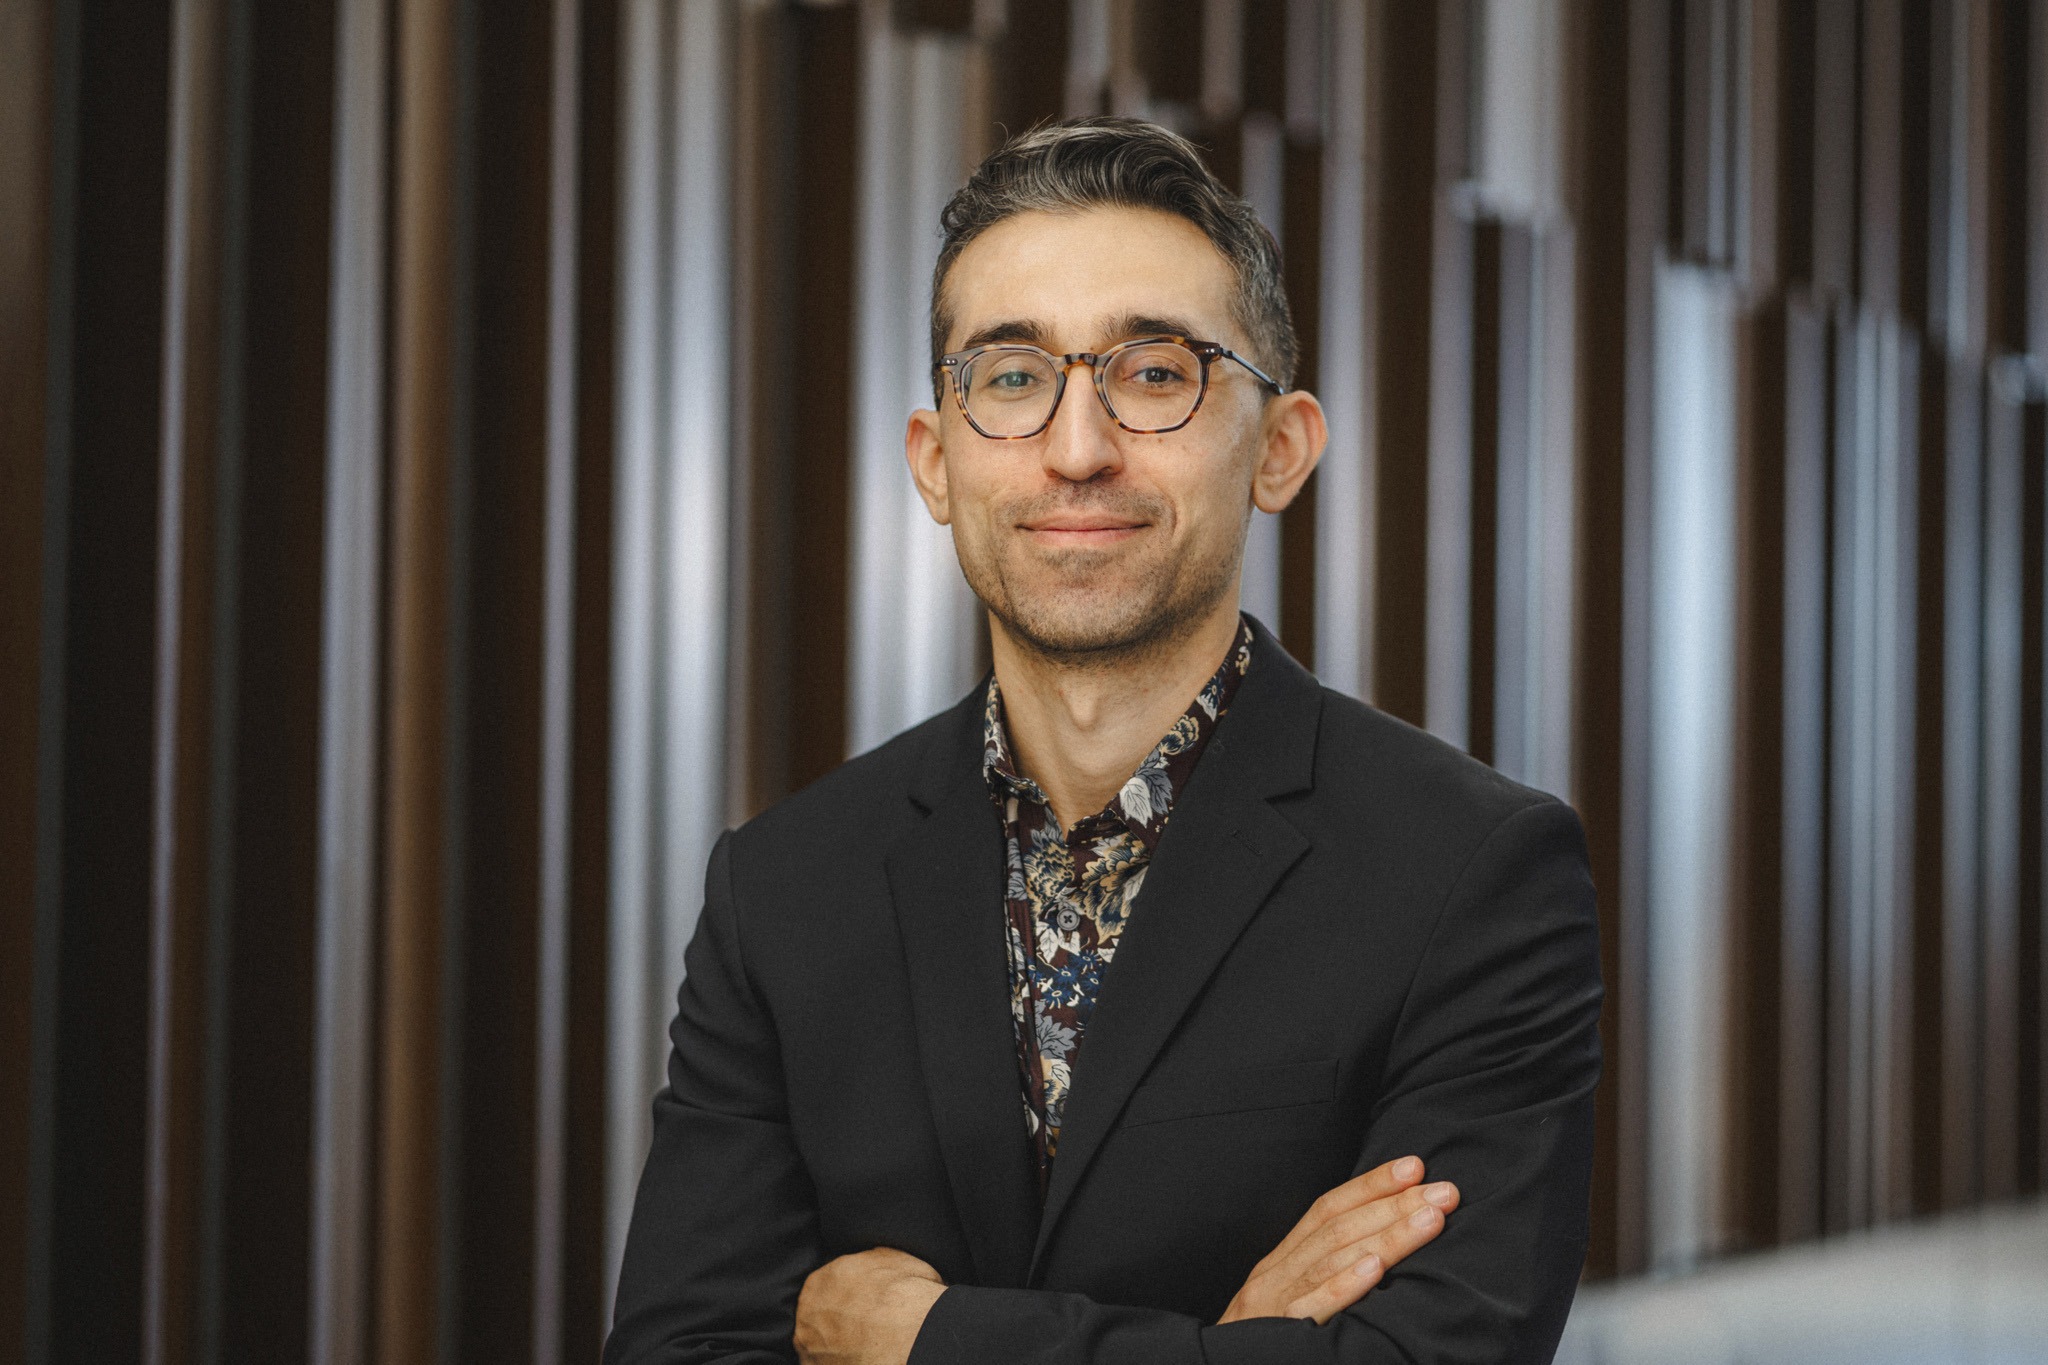
[[946, 272], [967, 244], [1020, 213], [1159, 209], [1202, 229], [1237, 274], [1231, 313], [1253, 358], [1294, 385], [1300, 358], [1280, 282], [1280, 246], [1243, 194], [1202, 164], [1186, 137], [1141, 119], [1042, 123], [991, 151], [938, 215], [944, 241], [932, 270], [932, 381], [952, 329]]

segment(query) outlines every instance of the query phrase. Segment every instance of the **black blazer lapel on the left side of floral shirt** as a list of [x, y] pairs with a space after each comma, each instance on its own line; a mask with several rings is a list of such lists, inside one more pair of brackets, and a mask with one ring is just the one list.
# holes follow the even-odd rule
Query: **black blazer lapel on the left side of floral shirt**
[[1004, 833], [981, 765], [981, 694], [934, 737], [918, 804], [930, 814], [887, 853], [909, 966], [918, 1062], [981, 1285], [1020, 1287], [1036, 1232], [1010, 968]]

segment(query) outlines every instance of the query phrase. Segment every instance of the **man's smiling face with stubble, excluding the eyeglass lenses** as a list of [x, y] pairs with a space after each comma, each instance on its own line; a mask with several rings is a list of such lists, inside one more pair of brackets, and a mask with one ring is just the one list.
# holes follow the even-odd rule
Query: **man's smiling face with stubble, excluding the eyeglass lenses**
[[[1229, 262], [1182, 217], [1026, 213], [954, 262], [946, 350], [1030, 342], [1061, 356], [1182, 334], [1260, 362], [1231, 319], [1235, 289]], [[1112, 661], [1235, 608], [1264, 393], [1243, 366], [1217, 360], [1194, 420], [1141, 436], [1116, 426], [1075, 366], [1051, 428], [991, 440], [948, 387], [938, 413], [913, 417], [911, 467], [932, 516], [952, 526], [969, 585], [1018, 643]], [[920, 458], [920, 424], [934, 422], [938, 440]]]

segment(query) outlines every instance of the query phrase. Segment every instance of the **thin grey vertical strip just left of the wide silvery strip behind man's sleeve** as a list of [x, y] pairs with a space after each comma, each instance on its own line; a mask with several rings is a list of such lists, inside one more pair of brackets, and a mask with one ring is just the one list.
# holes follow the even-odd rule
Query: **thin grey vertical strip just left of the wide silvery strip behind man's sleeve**
[[561, 1357], [569, 1052], [569, 755], [575, 706], [580, 6], [555, 0], [549, 111], [547, 505], [541, 571], [541, 886], [535, 964], [532, 1361]]

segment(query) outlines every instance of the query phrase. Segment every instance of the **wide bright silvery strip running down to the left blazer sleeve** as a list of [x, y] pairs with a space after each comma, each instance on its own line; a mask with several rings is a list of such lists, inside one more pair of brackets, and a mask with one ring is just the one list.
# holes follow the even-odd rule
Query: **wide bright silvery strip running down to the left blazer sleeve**
[[723, 823], [731, 430], [729, 10], [635, 0], [623, 47], [608, 1275]]

